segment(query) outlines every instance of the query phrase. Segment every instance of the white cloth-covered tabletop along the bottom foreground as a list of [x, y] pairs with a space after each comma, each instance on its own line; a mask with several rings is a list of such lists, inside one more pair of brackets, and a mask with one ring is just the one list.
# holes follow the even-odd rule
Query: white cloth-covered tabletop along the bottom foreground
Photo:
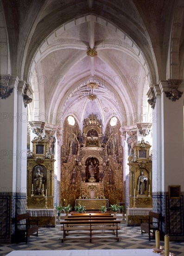
[[17, 250], [6, 256], [155, 256], [152, 249]]

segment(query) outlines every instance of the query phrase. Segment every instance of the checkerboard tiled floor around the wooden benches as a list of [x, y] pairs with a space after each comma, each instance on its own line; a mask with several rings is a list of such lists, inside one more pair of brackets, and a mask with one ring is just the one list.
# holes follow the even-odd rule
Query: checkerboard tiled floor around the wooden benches
[[[126, 224], [121, 224], [119, 230], [119, 242], [115, 239], [105, 239], [104, 236], [99, 239], [75, 239], [66, 240], [61, 243], [62, 231], [60, 225], [55, 228], [40, 228], [37, 236], [30, 236], [28, 243], [18, 244], [0, 244], [0, 255], [5, 256], [12, 250], [59, 250], [59, 249], [150, 249], [155, 245], [155, 240], [148, 240], [148, 235], [141, 235], [140, 227], [127, 227]], [[79, 235], [79, 234], [77, 234]], [[164, 245], [161, 241], [160, 245]], [[184, 256], [184, 242], [170, 242], [170, 251], [175, 256]]]

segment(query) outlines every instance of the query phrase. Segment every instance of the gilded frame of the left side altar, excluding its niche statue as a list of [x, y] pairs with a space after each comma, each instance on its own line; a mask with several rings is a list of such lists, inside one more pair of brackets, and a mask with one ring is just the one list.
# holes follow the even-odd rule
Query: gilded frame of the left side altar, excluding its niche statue
[[[49, 140], [46, 137], [35, 137], [32, 140], [33, 153], [27, 158], [27, 209], [54, 209], [54, 158], [49, 151]], [[37, 154], [36, 146], [43, 146], [43, 154]], [[42, 193], [35, 193], [35, 167], [41, 167], [44, 173]]]

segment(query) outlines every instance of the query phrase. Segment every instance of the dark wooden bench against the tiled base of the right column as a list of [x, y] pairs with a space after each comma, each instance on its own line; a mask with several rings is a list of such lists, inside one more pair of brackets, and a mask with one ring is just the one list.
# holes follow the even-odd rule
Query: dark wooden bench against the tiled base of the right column
[[[160, 228], [160, 218], [161, 218], [161, 215], [159, 213], [150, 211], [149, 218], [146, 219], [148, 220], [148, 222], [143, 223], [142, 221], [145, 220], [145, 218], [140, 219], [141, 234], [148, 233], [149, 241], [151, 240], [151, 234], [154, 234], [155, 230], [159, 230]], [[156, 219], [156, 221], [153, 221], [153, 219]]]

